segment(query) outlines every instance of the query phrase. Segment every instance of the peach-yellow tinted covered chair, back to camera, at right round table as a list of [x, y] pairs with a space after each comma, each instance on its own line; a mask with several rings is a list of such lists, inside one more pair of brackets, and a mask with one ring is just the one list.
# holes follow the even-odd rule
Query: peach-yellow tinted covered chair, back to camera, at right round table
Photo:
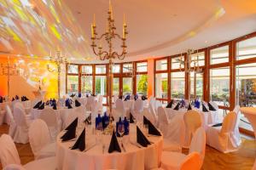
[[184, 147], [189, 147], [191, 138], [193, 137], [195, 130], [198, 127], [202, 126], [202, 120], [201, 120], [201, 115], [197, 111], [187, 111], [184, 116], [184, 122], [185, 122], [185, 144]]

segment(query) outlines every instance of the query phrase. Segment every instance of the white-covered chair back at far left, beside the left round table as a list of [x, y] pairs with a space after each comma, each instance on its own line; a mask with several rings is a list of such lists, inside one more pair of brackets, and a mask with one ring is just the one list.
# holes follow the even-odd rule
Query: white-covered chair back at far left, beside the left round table
[[14, 108], [14, 119], [15, 123], [19, 127], [28, 127], [26, 123], [26, 113], [20, 106], [15, 105]]

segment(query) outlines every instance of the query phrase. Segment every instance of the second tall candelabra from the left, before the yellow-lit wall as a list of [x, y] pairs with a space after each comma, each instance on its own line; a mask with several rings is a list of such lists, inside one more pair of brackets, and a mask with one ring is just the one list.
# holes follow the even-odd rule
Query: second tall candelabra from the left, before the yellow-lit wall
[[54, 57], [51, 55], [51, 52], [50, 52], [49, 61], [54, 63], [55, 65], [57, 65], [57, 69], [50, 68], [50, 66], [47, 65], [47, 70], [49, 72], [57, 72], [58, 73], [58, 98], [60, 99], [60, 97], [61, 97], [61, 92], [60, 92], [60, 89], [61, 89], [61, 72], [63, 72], [63, 73], [66, 72], [66, 69], [61, 69], [61, 65], [67, 65], [68, 64], [67, 57], [65, 57], [65, 55], [62, 56], [61, 51], [57, 50]]

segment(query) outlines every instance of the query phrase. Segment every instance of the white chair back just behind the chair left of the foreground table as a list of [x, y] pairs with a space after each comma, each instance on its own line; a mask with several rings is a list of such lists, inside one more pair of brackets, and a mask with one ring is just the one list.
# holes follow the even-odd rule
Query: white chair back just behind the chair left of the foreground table
[[48, 127], [55, 127], [58, 124], [56, 113], [52, 108], [42, 110], [39, 118], [46, 122]]

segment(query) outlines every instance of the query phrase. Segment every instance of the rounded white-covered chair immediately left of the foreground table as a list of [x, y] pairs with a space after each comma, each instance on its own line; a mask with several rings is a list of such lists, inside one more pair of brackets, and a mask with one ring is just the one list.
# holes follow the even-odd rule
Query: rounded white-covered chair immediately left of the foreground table
[[[36, 160], [55, 156], [55, 150], [45, 150], [45, 147], [50, 143], [50, 136], [47, 124], [43, 120], [37, 119], [32, 122], [29, 127], [28, 137]], [[42, 152], [43, 149], [44, 152]]]

